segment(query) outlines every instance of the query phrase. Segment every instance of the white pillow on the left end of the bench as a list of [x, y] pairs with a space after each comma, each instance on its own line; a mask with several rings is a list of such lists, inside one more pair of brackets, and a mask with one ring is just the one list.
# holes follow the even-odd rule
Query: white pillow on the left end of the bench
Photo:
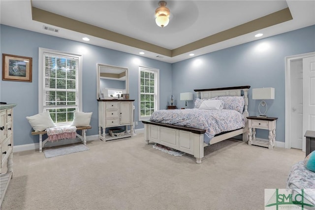
[[54, 121], [51, 119], [48, 111], [26, 117], [29, 120], [35, 132], [45, 131], [46, 128], [55, 127]]

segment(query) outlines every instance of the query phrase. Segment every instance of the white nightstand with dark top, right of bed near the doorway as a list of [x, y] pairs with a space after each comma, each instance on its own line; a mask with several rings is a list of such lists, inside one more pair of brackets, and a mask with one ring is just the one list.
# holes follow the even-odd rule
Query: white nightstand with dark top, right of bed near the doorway
[[[256, 117], [250, 116], [248, 119], [248, 145], [257, 145], [272, 149], [276, 140], [276, 122], [278, 117]], [[256, 139], [256, 129], [269, 130], [269, 140]]]

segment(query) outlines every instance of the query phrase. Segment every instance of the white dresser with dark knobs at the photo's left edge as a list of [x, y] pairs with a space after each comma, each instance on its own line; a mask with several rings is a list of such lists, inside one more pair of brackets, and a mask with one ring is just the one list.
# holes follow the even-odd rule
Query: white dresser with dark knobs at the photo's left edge
[[13, 176], [13, 109], [0, 105], [0, 205]]

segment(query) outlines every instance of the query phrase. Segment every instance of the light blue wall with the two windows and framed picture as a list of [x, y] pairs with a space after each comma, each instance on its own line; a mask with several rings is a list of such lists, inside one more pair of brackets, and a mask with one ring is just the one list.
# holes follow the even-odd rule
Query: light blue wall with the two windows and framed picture
[[[32, 57], [32, 82], [2, 81], [0, 79], [0, 101], [17, 104], [14, 108], [14, 145], [37, 143], [32, 136], [32, 127], [25, 118], [38, 113], [38, 47], [83, 55], [83, 111], [93, 112], [93, 129], [87, 135], [98, 134], [98, 108], [96, 101], [96, 63], [126, 67], [129, 69], [130, 99], [135, 99], [135, 120], [138, 120], [138, 68], [159, 69], [160, 107], [166, 106], [171, 95], [171, 64], [131, 55], [128, 53], [71, 41], [51, 35], [43, 35], [0, 25], [0, 53]], [[0, 66], [2, 66], [2, 59]], [[143, 128], [139, 123], [138, 128]]]

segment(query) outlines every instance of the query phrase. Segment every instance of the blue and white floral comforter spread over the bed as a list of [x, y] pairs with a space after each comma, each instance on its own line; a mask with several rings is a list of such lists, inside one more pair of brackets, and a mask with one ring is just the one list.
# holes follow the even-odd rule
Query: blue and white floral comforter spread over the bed
[[205, 129], [209, 140], [222, 132], [243, 128], [246, 122], [244, 116], [235, 110], [198, 108], [158, 110], [153, 112], [150, 121]]

